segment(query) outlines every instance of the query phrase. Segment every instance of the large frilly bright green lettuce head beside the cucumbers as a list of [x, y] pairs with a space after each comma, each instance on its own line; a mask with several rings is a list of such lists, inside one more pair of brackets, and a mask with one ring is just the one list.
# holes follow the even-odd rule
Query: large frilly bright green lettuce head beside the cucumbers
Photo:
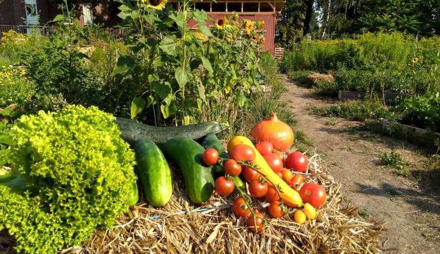
[[94, 106], [66, 106], [11, 128], [14, 170], [0, 179], [0, 230], [16, 238], [18, 252], [81, 244], [128, 209], [134, 154], [114, 119]]

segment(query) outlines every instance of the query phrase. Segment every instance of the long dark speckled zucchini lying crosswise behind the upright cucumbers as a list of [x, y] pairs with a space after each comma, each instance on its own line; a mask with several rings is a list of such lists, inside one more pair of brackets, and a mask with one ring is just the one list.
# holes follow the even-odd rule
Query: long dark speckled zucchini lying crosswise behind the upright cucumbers
[[156, 144], [164, 144], [175, 137], [199, 139], [210, 132], [218, 133], [229, 126], [218, 122], [205, 122], [195, 125], [154, 127], [144, 125], [127, 118], [117, 117], [114, 121], [122, 131], [121, 138], [132, 145], [139, 139], [149, 139]]

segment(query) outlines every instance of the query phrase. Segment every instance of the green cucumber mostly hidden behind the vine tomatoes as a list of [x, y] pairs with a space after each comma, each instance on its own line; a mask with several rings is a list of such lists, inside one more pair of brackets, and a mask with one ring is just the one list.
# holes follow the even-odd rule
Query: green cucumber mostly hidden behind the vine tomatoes
[[[219, 156], [223, 159], [229, 159], [229, 154], [226, 152], [226, 149], [221, 144], [220, 140], [217, 138], [216, 133], [211, 132], [208, 135], [206, 135], [205, 139], [202, 142], [203, 148], [214, 148], [219, 152]], [[214, 165], [213, 166], [214, 171], [214, 178], [217, 179], [220, 176], [224, 176], [224, 170], [222, 165]], [[233, 182], [235, 184], [234, 193], [238, 194], [239, 191], [236, 190], [236, 188], [239, 188], [242, 191], [245, 191], [245, 186], [242, 181], [242, 179], [239, 176], [235, 176], [233, 178]]]

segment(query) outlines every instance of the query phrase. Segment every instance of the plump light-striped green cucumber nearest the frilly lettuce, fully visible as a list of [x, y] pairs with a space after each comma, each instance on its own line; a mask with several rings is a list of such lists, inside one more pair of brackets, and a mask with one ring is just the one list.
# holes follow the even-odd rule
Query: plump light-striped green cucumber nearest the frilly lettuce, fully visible
[[145, 199], [152, 206], [163, 206], [173, 194], [171, 170], [162, 151], [148, 139], [134, 143], [137, 176], [140, 179]]

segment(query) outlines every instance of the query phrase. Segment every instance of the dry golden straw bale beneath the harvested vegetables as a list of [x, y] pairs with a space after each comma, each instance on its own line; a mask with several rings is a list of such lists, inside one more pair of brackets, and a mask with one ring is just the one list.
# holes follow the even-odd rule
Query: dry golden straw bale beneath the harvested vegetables
[[[313, 222], [299, 225], [290, 214], [268, 218], [264, 233], [251, 233], [245, 219], [237, 219], [231, 211], [235, 195], [214, 194], [209, 203], [194, 206], [181, 175], [173, 170], [173, 197], [163, 208], [140, 203], [119, 217], [113, 229], [97, 231], [82, 246], [60, 253], [380, 253], [378, 236], [385, 223], [366, 222], [356, 208], [343, 204], [341, 185], [320, 163], [315, 154], [304, 174], [328, 193]], [[264, 212], [268, 204], [259, 201], [256, 207]]]

